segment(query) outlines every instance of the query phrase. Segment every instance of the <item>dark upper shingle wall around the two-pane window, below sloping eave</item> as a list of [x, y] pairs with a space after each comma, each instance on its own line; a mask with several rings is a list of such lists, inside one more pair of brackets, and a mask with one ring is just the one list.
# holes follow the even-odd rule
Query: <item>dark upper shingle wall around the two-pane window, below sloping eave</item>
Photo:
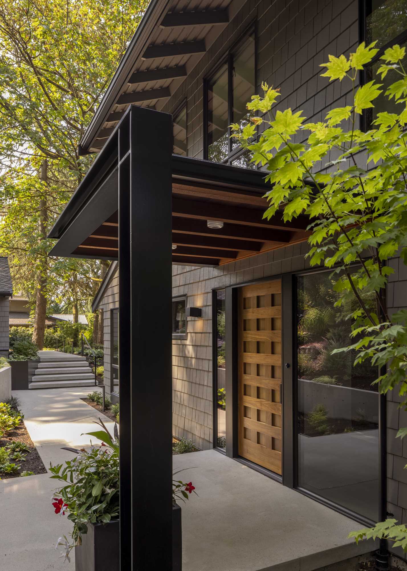
[[357, 0], [248, 0], [163, 109], [173, 112], [186, 99], [188, 156], [203, 158], [203, 79], [251, 23], [257, 22], [257, 93], [264, 81], [279, 87], [276, 108], [301, 109], [316, 122], [332, 106], [347, 104], [350, 82], [329, 85], [319, 66], [328, 54], [357, 46], [357, 17]]

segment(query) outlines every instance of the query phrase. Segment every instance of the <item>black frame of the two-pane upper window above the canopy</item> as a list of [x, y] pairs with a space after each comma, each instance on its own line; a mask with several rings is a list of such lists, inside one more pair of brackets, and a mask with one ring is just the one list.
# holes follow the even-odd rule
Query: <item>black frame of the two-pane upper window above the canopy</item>
[[[246, 39], [251, 35], [254, 35], [254, 95], [257, 94], [257, 80], [258, 80], [258, 71], [257, 71], [257, 21], [252, 22], [249, 27], [243, 32], [241, 37], [239, 37], [238, 41], [230, 47], [227, 51], [227, 54], [223, 56], [223, 58], [217, 63], [213, 70], [211, 70], [210, 74], [203, 79], [203, 159], [210, 160], [208, 158], [208, 91], [209, 85], [218, 71], [222, 68], [222, 66], [227, 65], [227, 137], [229, 141], [229, 149], [227, 158], [222, 161], [220, 164], [229, 164], [231, 166], [232, 163], [241, 158], [241, 156], [245, 155], [247, 151], [242, 147], [232, 148], [232, 139], [230, 138], [231, 129], [229, 125], [233, 122], [232, 116], [232, 108], [233, 108], [233, 57], [235, 52], [239, 50], [239, 48], [245, 43]], [[258, 167], [256, 167], [257, 170]]]

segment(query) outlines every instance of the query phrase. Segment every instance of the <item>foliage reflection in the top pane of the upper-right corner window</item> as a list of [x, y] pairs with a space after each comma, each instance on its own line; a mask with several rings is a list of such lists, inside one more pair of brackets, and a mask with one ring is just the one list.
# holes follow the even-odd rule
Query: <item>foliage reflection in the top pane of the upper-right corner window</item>
[[366, 17], [366, 43], [385, 46], [407, 29], [406, 0], [372, 0], [372, 11]]

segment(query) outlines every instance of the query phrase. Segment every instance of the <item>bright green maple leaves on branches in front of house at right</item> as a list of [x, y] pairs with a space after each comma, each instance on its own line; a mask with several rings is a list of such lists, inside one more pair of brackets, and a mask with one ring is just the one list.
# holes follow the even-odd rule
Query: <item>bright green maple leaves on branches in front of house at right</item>
[[[357, 87], [360, 70], [376, 55], [375, 42], [362, 43], [349, 58], [329, 56], [323, 64], [329, 81], [346, 81], [352, 89], [352, 104], [334, 108], [318, 123], [306, 123], [302, 112], [274, 110], [278, 90], [263, 86], [264, 97], [252, 97], [247, 108], [259, 112], [253, 124], [239, 134], [253, 161], [266, 166], [270, 219], [283, 209], [284, 220], [300, 214], [310, 218], [308, 242], [311, 266], [323, 264], [336, 276], [339, 293], [336, 307], [349, 300], [357, 306], [349, 315], [355, 343], [333, 353], [356, 353], [355, 366], [365, 360], [383, 367], [375, 381], [381, 393], [397, 389], [406, 406], [407, 311], [389, 315], [385, 287], [393, 269], [387, 261], [400, 254], [407, 264], [407, 73], [402, 65], [405, 48], [385, 50], [378, 67], [378, 81]], [[397, 73], [397, 81], [382, 90], [386, 75]], [[384, 93], [382, 93], [384, 91]], [[397, 113], [378, 112], [367, 131], [357, 128], [358, 116], [374, 109], [382, 94], [396, 103]], [[258, 126], [264, 131], [254, 140]], [[293, 142], [295, 138], [298, 142]], [[302, 141], [302, 142], [299, 142]], [[355, 269], [355, 264], [357, 268]], [[375, 303], [365, 303], [365, 296]], [[335, 356], [335, 355], [333, 355]], [[407, 428], [397, 436], [405, 436]], [[394, 520], [372, 530], [353, 534], [361, 537], [389, 537], [407, 550], [404, 526]]]

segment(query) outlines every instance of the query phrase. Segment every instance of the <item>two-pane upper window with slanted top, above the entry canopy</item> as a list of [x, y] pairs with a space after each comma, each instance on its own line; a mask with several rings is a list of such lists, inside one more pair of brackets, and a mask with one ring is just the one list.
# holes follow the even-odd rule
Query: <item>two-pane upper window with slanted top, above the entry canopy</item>
[[215, 163], [229, 163], [255, 168], [235, 138], [229, 125], [243, 128], [251, 112], [246, 103], [255, 93], [254, 31], [232, 50], [225, 62], [206, 82], [206, 155]]

